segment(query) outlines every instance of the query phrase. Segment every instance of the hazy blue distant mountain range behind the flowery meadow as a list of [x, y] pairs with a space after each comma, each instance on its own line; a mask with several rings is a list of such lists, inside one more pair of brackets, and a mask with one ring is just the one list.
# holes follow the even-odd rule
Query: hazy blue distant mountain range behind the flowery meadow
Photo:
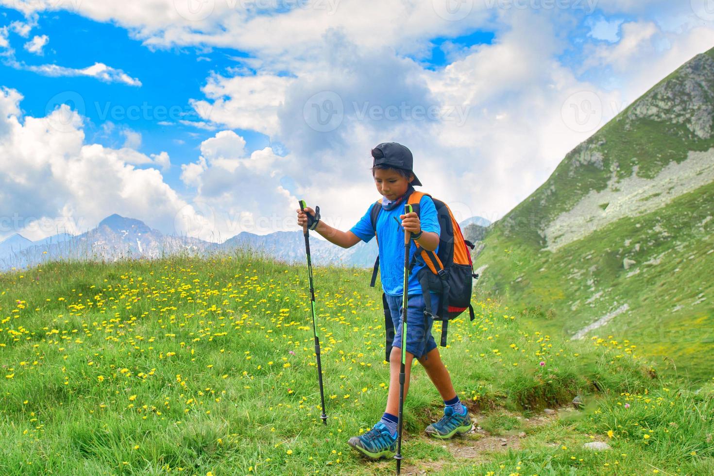
[[[466, 222], [488, 223], [479, 217], [468, 218]], [[14, 234], [0, 242], [0, 271], [23, 269], [45, 260], [113, 261], [120, 258], [160, 258], [175, 254], [206, 256], [230, 253], [235, 249], [270, 255], [285, 263], [302, 263], [305, 260], [302, 231], [281, 231], [267, 235], [242, 232], [223, 243], [211, 243], [186, 236], [167, 236], [146, 226], [143, 221], [114, 214], [104, 218], [96, 228], [77, 236], [60, 233], [31, 241]], [[310, 250], [315, 265], [369, 268], [377, 255], [377, 243], [371, 240], [344, 249], [329, 243], [317, 233], [311, 233]]]

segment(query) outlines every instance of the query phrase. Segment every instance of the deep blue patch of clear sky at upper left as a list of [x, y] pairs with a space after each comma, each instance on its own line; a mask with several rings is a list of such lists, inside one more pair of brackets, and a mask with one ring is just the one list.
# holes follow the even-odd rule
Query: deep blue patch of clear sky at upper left
[[[12, 9], [0, 9], [0, 18], [9, 24], [23, 21], [24, 16]], [[67, 31], [72, 33], [67, 34]], [[11, 36], [11, 44], [16, 44], [17, 61], [78, 69], [103, 61], [138, 78], [141, 87], [105, 83], [91, 77], [44, 76], [0, 64], [2, 85], [16, 88], [24, 95], [22, 108], [26, 114], [41, 117], [48, 107], [61, 101], [71, 104], [72, 96], [62, 93], [75, 91], [84, 99], [82, 111], [88, 120], [85, 128], [88, 141], [121, 147], [126, 141], [121, 131], [129, 128], [141, 133], [141, 146], [137, 150], [144, 153], [166, 151], [178, 164], [194, 161], [201, 141], [213, 135], [204, 129], [178, 123], [181, 119], [201, 121], [188, 100], [203, 96], [201, 86], [205, 85], [211, 71], [225, 71], [240, 64], [236, 61], [238, 57], [247, 56], [241, 51], [216, 48], [177, 47], [152, 51], [141, 41], [131, 39], [126, 29], [67, 11], [40, 15], [33, 34], [40, 33], [50, 38], [44, 56], [24, 50], [22, 44], [27, 39]], [[166, 81], [167, 75], [174, 80]], [[161, 122], [174, 124], [162, 126]], [[104, 127], [108, 123], [114, 124], [111, 131]], [[236, 129], [236, 132], [253, 150], [270, 143], [270, 138], [255, 131]], [[180, 168], [173, 168], [165, 174], [166, 182], [182, 193], [190, 193], [178, 180], [180, 172]]]

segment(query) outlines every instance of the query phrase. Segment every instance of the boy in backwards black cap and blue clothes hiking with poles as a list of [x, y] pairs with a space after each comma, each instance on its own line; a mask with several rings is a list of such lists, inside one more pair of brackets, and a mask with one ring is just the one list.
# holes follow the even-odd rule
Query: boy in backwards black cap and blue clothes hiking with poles
[[[429, 196], [422, 196], [419, 201], [420, 213], [404, 214], [404, 204], [408, 196], [414, 192], [413, 186], [421, 186], [421, 182], [412, 171], [413, 157], [405, 146], [388, 142], [381, 143], [372, 150], [372, 176], [377, 191], [383, 197], [381, 211], [378, 211], [376, 227], [373, 227], [372, 206], [350, 231], [339, 231], [320, 221], [319, 208], [317, 213], [312, 208], [305, 208], [303, 213], [298, 210], [298, 225], [320, 233], [331, 243], [343, 248], [350, 248], [360, 240], [368, 242], [374, 236], [377, 238], [379, 260], [382, 268], [382, 288], [388, 305], [388, 313], [396, 330], [391, 341], [391, 353], [388, 353], [390, 363], [389, 392], [386, 410], [374, 427], [361, 436], [351, 437], [348, 444], [358, 452], [372, 459], [393, 457], [397, 447], [397, 425], [399, 405], [399, 373], [401, 366], [402, 340], [402, 300], [404, 277], [404, 233], [412, 233], [409, 255], [416, 251], [415, 242], [424, 250], [438, 252], [439, 233], [441, 228], [436, 207]], [[379, 206], [379, 203], [373, 204]], [[377, 211], [377, 209], [376, 209]], [[309, 217], [308, 215], [309, 214]], [[396, 220], [398, 218], [398, 220]], [[397, 223], [394, 223], [397, 221]], [[401, 227], [399, 226], [401, 224]], [[375, 229], [376, 228], [376, 229]], [[450, 438], [458, 433], [471, 430], [471, 417], [468, 409], [461, 405], [456, 391], [451, 384], [451, 377], [441, 362], [436, 342], [431, 335], [433, 316], [424, 313], [428, 303], [423, 298], [423, 288], [417, 280], [418, 270], [426, 263], [419, 253], [416, 253], [416, 264], [411, 270], [408, 280], [407, 306], [407, 338], [406, 365], [404, 381], [404, 398], [409, 388], [411, 363], [416, 358], [426, 370], [444, 402], [444, 416], [436, 423], [426, 427], [428, 435], [437, 438]], [[440, 309], [441, 295], [429, 293], [431, 309]], [[385, 306], [387, 307], [387, 306]], [[387, 310], [385, 311], [387, 313]], [[441, 315], [441, 313], [436, 313]], [[389, 327], [389, 326], [388, 326]], [[389, 344], [388, 336], [388, 344]], [[446, 345], [442, 343], [442, 345]], [[389, 347], [389, 345], [388, 345]]]

